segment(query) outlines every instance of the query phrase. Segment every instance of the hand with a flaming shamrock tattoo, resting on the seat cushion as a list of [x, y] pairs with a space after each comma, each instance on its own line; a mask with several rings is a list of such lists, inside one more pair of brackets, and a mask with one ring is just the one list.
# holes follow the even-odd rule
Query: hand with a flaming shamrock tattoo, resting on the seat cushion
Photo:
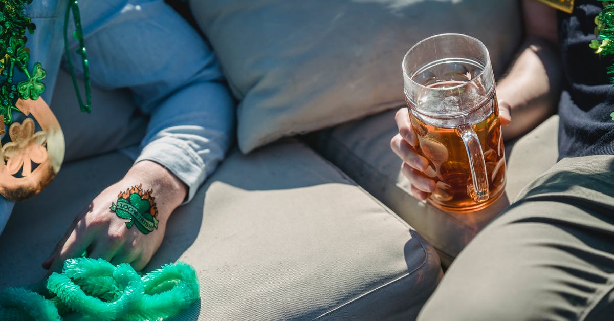
[[60, 271], [64, 260], [87, 251], [90, 258], [141, 270], [160, 247], [166, 222], [186, 192], [184, 183], [161, 165], [134, 164], [75, 218], [43, 267]]

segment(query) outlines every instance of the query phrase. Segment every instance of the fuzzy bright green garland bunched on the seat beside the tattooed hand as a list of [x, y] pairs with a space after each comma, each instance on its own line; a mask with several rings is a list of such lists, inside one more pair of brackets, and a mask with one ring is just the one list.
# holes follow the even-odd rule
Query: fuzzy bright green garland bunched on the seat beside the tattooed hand
[[166, 264], [141, 277], [130, 264], [91, 258], [64, 261], [62, 273], [47, 280], [47, 290], [53, 298], [23, 288], [0, 291], [0, 320], [62, 320], [69, 312], [88, 320], [164, 320], [187, 309], [200, 293], [187, 263]]

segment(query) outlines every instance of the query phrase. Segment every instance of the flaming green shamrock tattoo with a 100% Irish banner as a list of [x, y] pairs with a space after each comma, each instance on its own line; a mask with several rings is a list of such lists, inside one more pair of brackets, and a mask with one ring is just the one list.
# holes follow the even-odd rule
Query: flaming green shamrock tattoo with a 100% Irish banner
[[111, 212], [115, 212], [120, 218], [130, 220], [126, 226], [130, 229], [136, 226], [142, 234], [149, 234], [153, 229], [158, 229], [158, 209], [155, 205], [153, 190], [143, 191], [141, 185], [133, 186], [117, 196], [117, 204], [111, 203]]

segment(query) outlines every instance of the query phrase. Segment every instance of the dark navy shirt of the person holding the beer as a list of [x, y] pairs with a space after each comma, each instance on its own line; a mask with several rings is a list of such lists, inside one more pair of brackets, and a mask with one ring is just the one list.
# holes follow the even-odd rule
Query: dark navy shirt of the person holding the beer
[[573, 14], [559, 14], [559, 42], [565, 88], [559, 101], [559, 159], [614, 154], [614, 87], [607, 67], [588, 45], [595, 39], [594, 19], [603, 9], [596, 0], [578, 0]]

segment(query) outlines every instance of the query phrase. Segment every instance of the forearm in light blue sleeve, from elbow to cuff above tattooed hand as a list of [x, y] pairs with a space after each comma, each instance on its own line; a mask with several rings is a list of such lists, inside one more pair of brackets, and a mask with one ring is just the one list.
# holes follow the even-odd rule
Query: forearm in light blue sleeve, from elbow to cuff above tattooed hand
[[232, 143], [234, 107], [217, 82], [195, 81], [150, 114], [137, 161], [152, 160], [184, 182], [189, 201]]

